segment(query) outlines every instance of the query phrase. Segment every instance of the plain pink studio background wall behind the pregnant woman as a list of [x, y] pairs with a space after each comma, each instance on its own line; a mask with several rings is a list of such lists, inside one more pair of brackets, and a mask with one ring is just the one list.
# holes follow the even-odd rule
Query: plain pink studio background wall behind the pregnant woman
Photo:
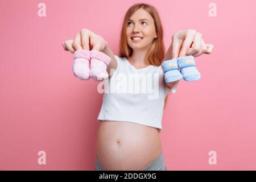
[[73, 55], [61, 44], [88, 28], [117, 54], [123, 16], [138, 2], [159, 11], [166, 49], [175, 31], [189, 28], [214, 44], [212, 55], [196, 58], [201, 80], [181, 80], [164, 110], [168, 170], [256, 169], [253, 0], [215, 0], [217, 17], [205, 0], [0, 1], [0, 169], [94, 170], [102, 94], [97, 82], [73, 76]]

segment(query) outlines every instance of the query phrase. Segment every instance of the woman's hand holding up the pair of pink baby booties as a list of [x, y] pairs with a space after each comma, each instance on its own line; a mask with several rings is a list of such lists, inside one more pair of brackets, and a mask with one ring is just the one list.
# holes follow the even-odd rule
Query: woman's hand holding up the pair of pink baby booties
[[74, 53], [77, 50], [96, 50], [103, 51], [107, 46], [106, 40], [101, 36], [94, 34], [94, 32], [82, 28], [82, 30], [76, 34], [74, 40], [66, 40], [63, 42], [63, 48], [65, 51]]

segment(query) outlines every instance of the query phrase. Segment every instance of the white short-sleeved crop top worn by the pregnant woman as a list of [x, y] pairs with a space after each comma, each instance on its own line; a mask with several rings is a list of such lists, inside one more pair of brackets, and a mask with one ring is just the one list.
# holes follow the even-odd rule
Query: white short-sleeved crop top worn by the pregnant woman
[[127, 121], [162, 130], [164, 98], [175, 93], [164, 83], [161, 66], [137, 69], [126, 57], [118, 57], [117, 69], [104, 80], [104, 96], [98, 121]]

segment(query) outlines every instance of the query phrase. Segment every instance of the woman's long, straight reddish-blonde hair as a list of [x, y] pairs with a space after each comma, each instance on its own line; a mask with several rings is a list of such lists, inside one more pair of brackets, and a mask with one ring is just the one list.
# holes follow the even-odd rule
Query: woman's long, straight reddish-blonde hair
[[[151, 5], [147, 5], [145, 3], [137, 3], [129, 8], [125, 14], [125, 18], [123, 19], [122, 24], [122, 30], [121, 30], [121, 39], [119, 42], [119, 57], [129, 57], [133, 53], [133, 49], [128, 45], [127, 43], [127, 35], [126, 35], [126, 28], [127, 23], [129, 22], [129, 19], [135, 11], [139, 9], [146, 10], [154, 19], [155, 23], [155, 30], [158, 37], [153, 40], [152, 46], [148, 49], [148, 52], [145, 56], [144, 63], [148, 63], [151, 65], [159, 66], [162, 63], [162, 60], [164, 59], [166, 49], [164, 47], [163, 43], [163, 28], [162, 23], [160, 20], [160, 16], [158, 14], [158, 11], [155, 9], [155, 7]], [[169, 94], [164, 99], [164, 109], [167, 105]]]

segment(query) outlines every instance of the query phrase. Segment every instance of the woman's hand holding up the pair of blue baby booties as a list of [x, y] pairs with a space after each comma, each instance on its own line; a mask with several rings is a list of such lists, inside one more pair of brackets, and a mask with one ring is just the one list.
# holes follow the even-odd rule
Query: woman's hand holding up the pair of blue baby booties
[[204, 53], [210, 54], [214, 46], [212, 44], [205, 44], [202, 34], [196, 30], [179, 30], [172, 35], [172, 43], [170, 48], [172, 58], [183, 56], [198, 57]]

